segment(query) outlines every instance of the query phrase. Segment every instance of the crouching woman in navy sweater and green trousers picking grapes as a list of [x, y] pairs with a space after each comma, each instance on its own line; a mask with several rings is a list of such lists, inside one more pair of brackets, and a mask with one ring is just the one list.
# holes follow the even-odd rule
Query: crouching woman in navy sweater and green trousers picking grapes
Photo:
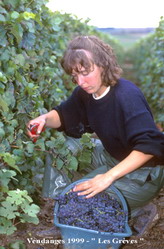
[[[78, 138], [95, 133], [98, 143], [91, 179], [74, 188], [91, 198], [114, 184], [124, 195], [131, 216], [164, 185], [164, 135], [156, 127], [140, 89], [121, 78], [112, 48], [95, 36], [75, 37], [61, 61], [77, 85], [72, 95], [28, 123], [28, 135], [44, 126]], [[38, 123], [37, 135], [30, 126]], [[95, 156], [94, 156], [95, 158]]]

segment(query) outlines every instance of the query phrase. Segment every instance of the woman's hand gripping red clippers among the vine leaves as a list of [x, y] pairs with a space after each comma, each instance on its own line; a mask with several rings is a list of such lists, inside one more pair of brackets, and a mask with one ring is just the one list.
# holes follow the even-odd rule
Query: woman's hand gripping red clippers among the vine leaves
[[[43, 131], [45, 124], [46, 118], [43, 115], [30, 120], [27, 123], [27, 135], [33, 139], [33, 141], [36, 141]], [[36, 132], [33, 132], [34, 125], [36, 125]]]

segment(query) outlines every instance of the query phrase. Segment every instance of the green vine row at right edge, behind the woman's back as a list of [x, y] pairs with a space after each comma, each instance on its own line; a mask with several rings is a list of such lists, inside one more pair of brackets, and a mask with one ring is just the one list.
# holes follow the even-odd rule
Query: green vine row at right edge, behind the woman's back
[[142, 89], [155, 118], [164, 128], [164, 19], [155, 32], [128, 51], [136, 82]]

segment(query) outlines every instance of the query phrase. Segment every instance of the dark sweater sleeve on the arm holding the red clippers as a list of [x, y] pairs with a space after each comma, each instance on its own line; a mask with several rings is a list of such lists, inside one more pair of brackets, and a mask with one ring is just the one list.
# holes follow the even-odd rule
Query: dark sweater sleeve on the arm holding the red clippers
[[68, 136], [75, 138], [80, 138], [85, 132], [92, 133], [88, 125], [79, 87], [74, 89], [72, 95], [66, 101], [53, 109], [58, 112], [61, 120], [59, 131], [64, 131]]

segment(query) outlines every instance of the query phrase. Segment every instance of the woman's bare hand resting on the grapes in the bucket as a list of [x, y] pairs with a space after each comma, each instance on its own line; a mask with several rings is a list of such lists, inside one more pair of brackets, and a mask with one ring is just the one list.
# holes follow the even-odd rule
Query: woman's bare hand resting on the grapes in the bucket
[[109, 178], [109, 175], [99, 174], [94, 178], [86, 180], [78, 185], [76, 185], [73, 191], [81, 191], [78, 195], [85, 195], [86, 198], [91, 198], [94, 195], [102, 192], [112, 184], [112, 177]]

